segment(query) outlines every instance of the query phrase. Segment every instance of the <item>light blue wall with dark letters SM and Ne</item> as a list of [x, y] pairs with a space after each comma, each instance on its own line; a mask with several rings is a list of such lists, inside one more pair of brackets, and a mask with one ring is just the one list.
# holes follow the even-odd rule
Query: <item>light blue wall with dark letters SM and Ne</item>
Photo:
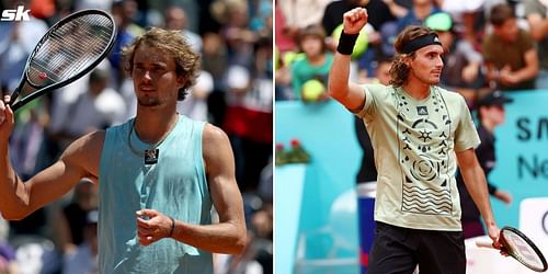
[[517, 227], [520, 202], [548, 196], [548, 90], [505, 94], [514, 102], [495, 130], [496, 167], [489, 179], [514, 198], [511, 206], [491, 198], [499, 226]]

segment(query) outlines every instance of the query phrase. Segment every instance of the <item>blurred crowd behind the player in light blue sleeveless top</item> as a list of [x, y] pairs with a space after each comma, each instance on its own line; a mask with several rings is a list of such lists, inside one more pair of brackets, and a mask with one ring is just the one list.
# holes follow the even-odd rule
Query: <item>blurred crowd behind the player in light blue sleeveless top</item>
[[[10, 157], [23, 180], [50, 165], [68, 144], [124, 123], [136, 112], [121, 50], [147, 27], [181, 31], [202, 54], [202, 72], [180, 114], [229, 136], [243, 195], [249, 244], [216, 255], [216, 274], [272, 273], [273, 2], [269, 0], [2, 0], [30, 9], [30, 21], [0, 22], [0, 88], [10, 94], [49, 26], [83, 9], [109, 11], [117, 38], [90, 75], [18, 111]], [[96, 272], [98, 186], [79, 182], [61, 201], [20, 221], [0, 217], [0, 273]], [[214, 213], [215, 214], [215, 213]]]

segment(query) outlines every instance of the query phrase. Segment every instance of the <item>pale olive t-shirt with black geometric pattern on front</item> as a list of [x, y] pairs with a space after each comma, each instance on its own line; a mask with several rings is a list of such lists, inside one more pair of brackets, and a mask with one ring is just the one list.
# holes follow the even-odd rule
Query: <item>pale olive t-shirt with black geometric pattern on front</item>
[[480, 144], [464, 98], [436, 85], [424, 100], [402, 88], [364, 84], [356, 113], [375, 148], [375, 220], [413, 229], [459, 231], [455, 151]]

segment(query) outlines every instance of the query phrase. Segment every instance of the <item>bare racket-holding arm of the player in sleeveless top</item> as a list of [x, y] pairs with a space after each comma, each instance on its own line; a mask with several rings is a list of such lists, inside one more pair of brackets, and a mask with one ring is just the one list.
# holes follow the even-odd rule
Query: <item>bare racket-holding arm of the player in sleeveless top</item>
[[10, 162], [9, 139], [13, 126], [13, 111], [0, 100], [0, 213], [5, 219], [26, 217], [62, 196], [81, 178], [96, 181], [104, 132], [78, 139], [56, 163], [23, 182]]

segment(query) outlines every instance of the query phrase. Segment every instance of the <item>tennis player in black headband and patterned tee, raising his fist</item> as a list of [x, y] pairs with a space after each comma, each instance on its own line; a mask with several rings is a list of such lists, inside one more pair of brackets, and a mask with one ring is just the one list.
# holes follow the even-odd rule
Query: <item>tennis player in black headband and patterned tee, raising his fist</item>
[[419, 265], [421, 274], [465, 274], [457, 164], [500, 248], [470, 112], [460, 94], [437, 87], [444, 47], [424, 26], [397, 36], [389, 85], [349, 82], [351, 53], [366, 23], [366, 9], [344, 13], [329, 92], [364, 121], [374, 146], [376, 231], [367, 273], [412, 273]]

